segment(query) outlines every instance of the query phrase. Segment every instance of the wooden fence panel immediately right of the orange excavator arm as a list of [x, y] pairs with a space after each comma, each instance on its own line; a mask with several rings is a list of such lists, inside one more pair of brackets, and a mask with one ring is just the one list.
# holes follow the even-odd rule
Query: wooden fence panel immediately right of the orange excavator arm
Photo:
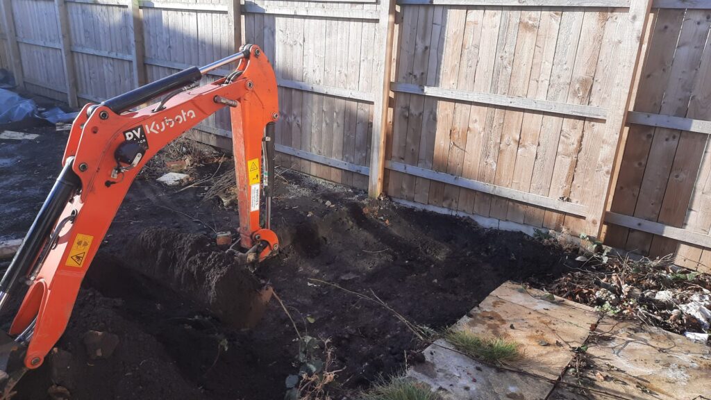
[[[245, 41], [264, 48], [279, 81], [280, 148], [353, 166], [368, 164], [373, 73], [379, 52], [372, 48], [375, 7], [331, 1], [245, 2]], [[349, 186], [365, 189], [368, 185], [361, 174], [283, 152], [279, 162]]]

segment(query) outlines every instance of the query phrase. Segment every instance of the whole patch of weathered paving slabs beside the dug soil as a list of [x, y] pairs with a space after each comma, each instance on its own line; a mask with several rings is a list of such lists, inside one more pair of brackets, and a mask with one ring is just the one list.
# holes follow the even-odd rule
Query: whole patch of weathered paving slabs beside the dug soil
[[[438, 340], [408, 376], [445, 400], [711, 399], [706, 344], [638, 321], [601, 317], [591, 307], [516, 283], [501, 285], [453, 328], [507, 337], [520, 344], [523, 357], [500, 369]], [[582, 362], [580, 374], [567, 367], [575, 357]]]

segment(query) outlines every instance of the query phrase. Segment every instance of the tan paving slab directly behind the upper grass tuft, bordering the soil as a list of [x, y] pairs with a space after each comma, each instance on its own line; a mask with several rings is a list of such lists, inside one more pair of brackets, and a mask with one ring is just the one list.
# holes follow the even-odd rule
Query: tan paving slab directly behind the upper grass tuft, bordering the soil
[[548, 379], [560, 377], [574, 356], [573, 349], [590, 334], [589, 326], [580, 327], [493, 295], [461, 318], [454, 329], [506, 337], [520, 344], [523, 357], [513, 366]]

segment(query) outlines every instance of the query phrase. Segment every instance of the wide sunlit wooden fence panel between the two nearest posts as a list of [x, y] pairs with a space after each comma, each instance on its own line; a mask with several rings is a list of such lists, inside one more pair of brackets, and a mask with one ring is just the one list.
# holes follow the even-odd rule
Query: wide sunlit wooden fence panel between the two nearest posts
[[[637, 2], [634, 12], [645, 6]], [[582, 4], [447, 1], [407, 3], [401, 12], [387, 193], [596, 235], [599, 216], [581, 210], [599, 208], [606, 194], [606, 184], [592, 188], [589, 182], [608, 176], [594, 170], [614, 154], [616, 140], [599, 144], [609, 134], [607, 117], [621, 126], [619, 112], [610, 110], [626, 101], [616, 78], [626, 72], [614, 68], [634, 64], [626, 58], [634, 43], [621, 32], [641, 31], [643, 15]], [[413, 184], [412, 174], [424, 179]], [[563, 211], [572, 209], [577, 214]]]

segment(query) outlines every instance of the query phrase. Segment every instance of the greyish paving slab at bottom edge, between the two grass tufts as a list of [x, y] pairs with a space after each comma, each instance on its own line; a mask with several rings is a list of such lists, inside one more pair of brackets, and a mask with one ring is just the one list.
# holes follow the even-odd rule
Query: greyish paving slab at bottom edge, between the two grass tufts
[[437, 340], [424, 350], [425, 362], [407, 375], [437, 391], [443, 400], [542, 400], [553, 389], [551, 381], [475, 361]]

